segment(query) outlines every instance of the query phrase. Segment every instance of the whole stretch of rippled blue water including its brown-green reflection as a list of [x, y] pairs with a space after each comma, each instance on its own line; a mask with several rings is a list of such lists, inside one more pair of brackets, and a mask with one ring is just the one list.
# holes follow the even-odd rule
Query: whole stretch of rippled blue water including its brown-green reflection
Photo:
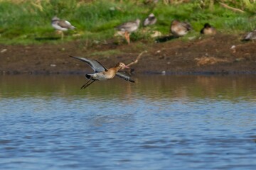
[[0, 169], [255, 169], [256, 76], [0, 77]]

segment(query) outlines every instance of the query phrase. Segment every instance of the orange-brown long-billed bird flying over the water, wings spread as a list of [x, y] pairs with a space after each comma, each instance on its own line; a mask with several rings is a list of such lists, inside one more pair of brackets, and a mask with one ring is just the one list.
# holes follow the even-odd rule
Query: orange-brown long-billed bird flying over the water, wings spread
[[132, 83], [135, 82], [125, 72], [119, 72], [119, 69], [122, 69], [122, 68], [129, 69], [129, 67], [127, 67], [122, 62], [117, 63], [117, 65], [115, 67], [106, 69], [97, 60], [89, 60], [84, 57], [74, 57], [71, 55], [70, 55], [70, 57], [80, 60], [82, 62], [86, 62], [87, 64], [89, 64], [90, 67], [92, 67], [92, 69], [95, 72], [94, 74], [85, 74], [85, 77], [89, 80], [84, 85], [81, 86], [81, 89], [87, 88], [87, 86], [90, 86], [90, 84], [92, 84], [94, 81], [97, 81], [97, 80], [101, 81], [101, 80], [113, 79], [115, 75], [117, 75], [117, 77], [122, 78], [126, 81], [130, 81]]

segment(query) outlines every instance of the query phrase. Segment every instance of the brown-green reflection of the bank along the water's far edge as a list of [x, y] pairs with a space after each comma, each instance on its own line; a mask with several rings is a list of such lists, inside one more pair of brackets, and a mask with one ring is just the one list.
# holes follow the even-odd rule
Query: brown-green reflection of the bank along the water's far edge
[[[138, 76], [136, 84], [122, 79], [96, 82], [88, 89], [80, 90], [86, 81], [82, 75], [69, 76], [0, 76], [0, 96], [74, 96], [75, 98], [126, 98], [133, 96], [150, 98], [150, 100], [178, 100], [178, 98], [212, 98], [216, 100], [237, 100], [247, 98], [255, 101], [255, 75], [234, 76]], [[165, 100], [165, 99], [164, 99]]]

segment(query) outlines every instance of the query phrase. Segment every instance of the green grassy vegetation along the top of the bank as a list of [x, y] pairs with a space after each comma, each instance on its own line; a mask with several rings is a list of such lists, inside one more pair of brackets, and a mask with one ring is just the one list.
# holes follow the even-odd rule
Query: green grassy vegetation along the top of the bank
[[[143, 21], [149, 13], [158, 19], [151, 30], [163, 35], [169, 34], [174, 18], [191, 23], [191, 35], [199, 35], [204, 23], [223, 33], [245, 33], [256, 27], [255, 11], [256, 2], [250, 0], [159, 0], [156, 4], [150, 0], [0, 0], [0, 43], [63, 42], [50, 24], [53, 16], [76, 27], [65, 32], [64, 41], [81, 40], [86, 44], [112, 39], [115, 26], [136, 18]], [[132, 35], [132, 41], [151, 40], [141, 30]]]

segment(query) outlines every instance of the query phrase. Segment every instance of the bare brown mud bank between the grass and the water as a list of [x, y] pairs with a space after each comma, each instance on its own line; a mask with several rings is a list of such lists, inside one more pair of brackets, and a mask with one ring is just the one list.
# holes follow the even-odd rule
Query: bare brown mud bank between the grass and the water
[[90, 57], [112, 67], [117, 62], [132, 62], [144, 50], [147, 52], [139, 62], [131, 66], [135, 73], [256, 73], [256, 42], [242, 42], [239, 35], [223, 34], [130, 45], [116, 45], [111, 40], [90, 46], [80, 40], [58, 45], [0, 45], [0, 73], [78, 74], [91, 69], [69, 55]]

